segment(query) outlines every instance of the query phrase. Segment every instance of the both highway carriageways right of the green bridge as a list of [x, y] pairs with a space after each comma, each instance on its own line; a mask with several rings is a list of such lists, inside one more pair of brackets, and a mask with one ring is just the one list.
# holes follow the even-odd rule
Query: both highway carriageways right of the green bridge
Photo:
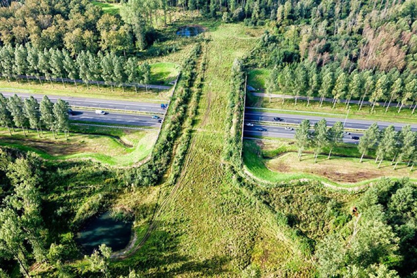
[[[275, 121], [274, 117], [282, 118], [281, 121]], [[293, 130], [286, 130], [283, 126], [277, 126], [277, 123], [290, 123], [299, 124], [304, 119], [309, 119], [311, 124], [316, 123], [323, 117], [321, 116], [306, 116], [306, 115], [289, 115], [289, 114], [278, 114], [269, 112], [258, 112], [251, 109], [246, 109], [245, 112], [245, 126], [244, 126], [244, 137], [275, 137], [275, 138], [294, 138], [296, 128]], [[325, 117], [328, 126], [332, 126], [335, 122], [344, 122], [344, 118], [333, 118]], [[259, 123], [259, 121], [262, 121]], [[268, 124], [271, 122], [271, 124]], [[248, 126], [248, 123], [252, 123], [253, 126]], [[274, 123], [274, 124], [272, 124]], [[345, 127], [349, 129], [367, 129], [373, 121], [369, 120], [358, 120], [358, 119], [347, 119]], [[401, 130], [401, 127], [406, 125], [404, 123], [390, 123], [390, 122], [378, 122], [380, 129], [385, 128], [391, 124], [394, 124], [395, 130]], [[412, 124], [412, 130], [417, 132], [417, 124]], [[260, 129], [260, 130], [259, 130]], [[262, 130], [264, 129], [264, 130]], [[361, 137], [362, 134], [358, 132], [349, 132], [344, 135], [344, 142], [347, 143], [358, 143], [359, 140], [351, 139], [352, 136]]]

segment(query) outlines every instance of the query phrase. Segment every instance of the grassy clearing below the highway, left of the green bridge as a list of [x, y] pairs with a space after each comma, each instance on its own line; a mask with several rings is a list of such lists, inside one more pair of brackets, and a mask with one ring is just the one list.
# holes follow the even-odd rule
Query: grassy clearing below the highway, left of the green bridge
[[0, 129], [0, 145], [34, 151], [47, 160], [93, 159], [109, 165], [127, 166], [140, 162], [151, 152], [157, 131], [105, 127], [76, 127], [69, 140], [63, 134], [54, 139], [50, 132], [39, 138], [36, 131], [27, 137], [21, 130], [10, 136]]

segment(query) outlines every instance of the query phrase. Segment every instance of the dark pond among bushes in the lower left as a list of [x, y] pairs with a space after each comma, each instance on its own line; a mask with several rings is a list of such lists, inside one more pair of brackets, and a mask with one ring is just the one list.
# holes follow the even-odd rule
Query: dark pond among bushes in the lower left
[[78, 232], [76, 242], [80, 244], [86, 254], [92, 254], [102, 243], [111, 247], [113, 252], [127, 246], [132, 235], [132, 222], [113, 219], [109, 212], [93, 218]]

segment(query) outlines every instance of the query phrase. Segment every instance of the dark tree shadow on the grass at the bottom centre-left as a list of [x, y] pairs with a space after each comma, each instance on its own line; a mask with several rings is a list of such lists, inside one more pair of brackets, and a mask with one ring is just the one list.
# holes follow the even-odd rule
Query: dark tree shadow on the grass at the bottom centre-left
[[169, 227], [158, 223], [145, 244], [135, 255], [122, 261], [114, 262], [112, 274], [115, 277], [127, 275], [129, 269], [144, 273], [146, 277], [176, 277], [179, 275], [216, 276], [223, 273], [224, 265], [231, 258], [213, 256], [201, 261], [195, 260], [181, 252], [181, 233], [175, 231], [175, 224]]

